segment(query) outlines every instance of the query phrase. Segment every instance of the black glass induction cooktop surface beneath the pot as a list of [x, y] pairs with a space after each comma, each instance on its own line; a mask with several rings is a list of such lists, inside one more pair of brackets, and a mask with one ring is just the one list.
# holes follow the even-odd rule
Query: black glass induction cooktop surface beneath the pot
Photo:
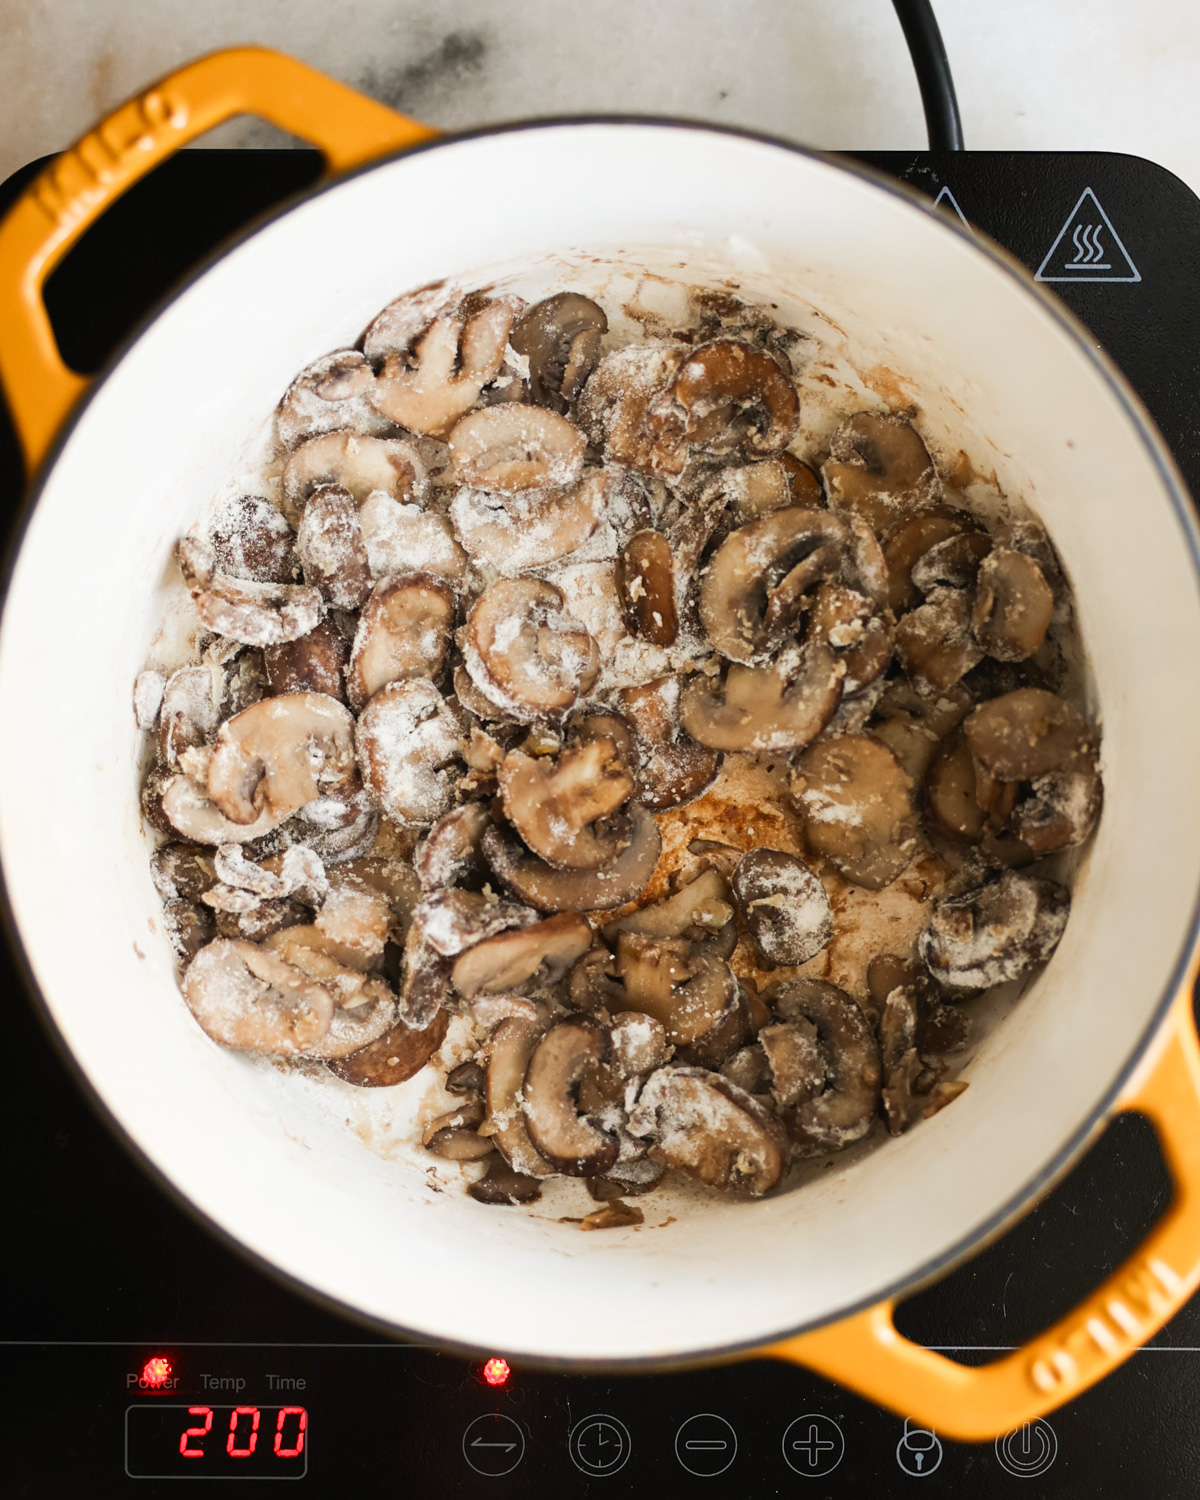
[[[1200, 489], [1200, 202], [1178, 178], [1108, 154], [864, 159], [1050, 284]], [[68, 360], [99, 366], [200, 256], [316, 165], [308, 152], [186, 152], [134, 189], [51, 279]], [[0, 206], [32, 171], [0, 189]], [[15, 508], [20, 490], [4, 422], [0, 500]], [[0, 964], [6, 1496], [170, 1496], [180, 1479], [242, 1479], [312, 1496], [924, 1485], [1182, 1500], [1200, 1482], [1200, 1302], [1100, 1388], [996, 1444], [951, 1443], [766, 1360], [620, 1378], [518, 1362], [507, 1377], [492, 1366], [489, 1384], [482, 1362], [392, 1342], [248, 1264], [148, 1180], [98, 1120], [15, 968]], [[968, 1362], [992, 1358], [1095, 1287], [1167, 1194], [1149, 1126], [1119, 1119], [1017, 1228], [904, 1304], [903, 1332]]]

